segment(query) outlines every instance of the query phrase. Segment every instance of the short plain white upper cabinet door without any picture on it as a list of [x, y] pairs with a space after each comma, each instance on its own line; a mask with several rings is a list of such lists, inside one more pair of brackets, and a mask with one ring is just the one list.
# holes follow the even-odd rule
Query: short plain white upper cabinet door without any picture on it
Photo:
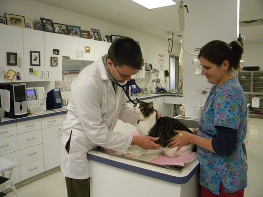
[[79, 38], [62, 35], [62, 56], [69, 57], [71, 60], [79, 60]]

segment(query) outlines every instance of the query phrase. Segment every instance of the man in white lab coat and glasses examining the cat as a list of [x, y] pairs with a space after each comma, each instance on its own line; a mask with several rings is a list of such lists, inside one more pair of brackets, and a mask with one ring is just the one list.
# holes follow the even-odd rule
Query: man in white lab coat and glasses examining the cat
[[139, 145], [158, 148], [158, 138], [127, 136], [112, 132], [118, 119], [132, 125], [136, 117], [126, 103], [125, 84], [142, 69], [140, 46], [129, 37], [116, 39], [108, 54], [85, 67], [72, 82], [68, 114], [63, 122], [61, 170], [66, 177], [68, 197], [89, 196], [89, 162], [86, 153], [96, 146], [119, 152]]

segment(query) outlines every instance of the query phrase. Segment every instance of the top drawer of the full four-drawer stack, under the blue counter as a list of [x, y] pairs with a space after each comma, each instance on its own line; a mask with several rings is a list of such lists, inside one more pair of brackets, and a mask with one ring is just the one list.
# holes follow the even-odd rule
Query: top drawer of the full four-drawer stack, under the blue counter
[[28, 131], [36, 131], [39, 129], [41, 129], [40, 118], [17, 123], [17, 133], [18, 134], [28, 132]]

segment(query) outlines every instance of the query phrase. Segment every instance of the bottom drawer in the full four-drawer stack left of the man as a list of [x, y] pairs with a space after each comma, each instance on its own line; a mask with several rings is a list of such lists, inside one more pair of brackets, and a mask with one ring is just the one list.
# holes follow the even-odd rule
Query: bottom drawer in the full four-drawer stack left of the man
[[20, 165], [21, 181], [35, 176], [44, 171], [44, 161], [39, 159], [35, 162]]

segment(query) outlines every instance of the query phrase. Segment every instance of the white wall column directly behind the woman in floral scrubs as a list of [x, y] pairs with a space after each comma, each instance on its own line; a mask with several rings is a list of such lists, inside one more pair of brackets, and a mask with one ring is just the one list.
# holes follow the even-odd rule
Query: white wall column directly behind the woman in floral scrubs
[[[185, 48], [194, 52], [211, 40], [230, 42], [237, 38], [239, 12], [238, 0], [184, 0], [189, 13], [185, 13]], [[198, 52], [195, 52], [198, 53]], [[194, 74], [193, 59], [196, 56], [184, 54], [183, 102], [186, 115], [193, 115], [193, 107], [202, 101], [198, 89], [211, 88], [205, 76]]]

